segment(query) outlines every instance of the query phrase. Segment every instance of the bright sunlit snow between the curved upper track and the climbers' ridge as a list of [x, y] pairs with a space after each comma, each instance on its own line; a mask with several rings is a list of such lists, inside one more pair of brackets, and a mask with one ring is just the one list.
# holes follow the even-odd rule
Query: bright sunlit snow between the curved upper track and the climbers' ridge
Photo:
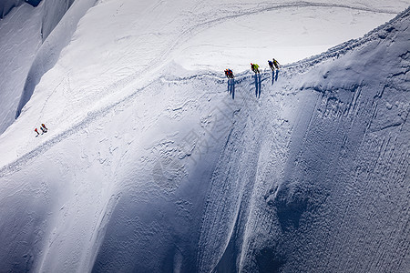
[[210, 25], [184, 42], [176, 59], [189, 69], [242, 71], [250, 62], [266, 66], [272, 57], [288, 64], [364, 35], [392, 16], [349, 5], [276, 4]]

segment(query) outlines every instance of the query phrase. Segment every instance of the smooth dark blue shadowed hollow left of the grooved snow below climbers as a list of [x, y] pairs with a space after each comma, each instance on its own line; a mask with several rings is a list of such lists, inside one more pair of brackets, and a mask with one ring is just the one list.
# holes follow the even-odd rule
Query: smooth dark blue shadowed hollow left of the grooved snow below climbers
[[[204, 85], [204, 88], [210, 92], [223, 83], [221, 80], [209, 81], [213, 84]], [[233, 93], [234, 82], [230, 82]], [[153, 88], [158, 89], [157, 86]], [[223, 106], [222, 101], [220, 106]], [[222, 110], [233, 116], [231, 107], [225, 106]], [[221, 122], [232, 126], [231, 119], [222, 118]], [[221, 134], [220, 126], [213, 127], [210, 134], [203, 136], [203, 142], [207, 141], [212, 150], [200, 156], [199, 150], [190, 151], [182, 158], [172, 154], [178, 150], [179, 144], [176, 143], [175, 149], [169, 147], [170, 154], [167, 150], [167, 153], [160, 153], [162, 156], [152, 158], [153, 176], [147, 171], [150, 165], [139, 170], [137, 156], [135, 171], [128, 171], [129, 175], [122, 178], [125, 185], [120, 187], [121, 199], [105, 227], [107, 232], [97, 251], [92, 272], [107, 272], [111, 268], [122, 268], [127, 272], [197, 272], [203, 209], [217, 164], [214, 158], [218, 157], [230, 136], [231, 129]], [[190, 160], [196, 163], [187, 168], [189, 163], [193, 164]], [[181, 175], [177, 176], [177, 173]]]

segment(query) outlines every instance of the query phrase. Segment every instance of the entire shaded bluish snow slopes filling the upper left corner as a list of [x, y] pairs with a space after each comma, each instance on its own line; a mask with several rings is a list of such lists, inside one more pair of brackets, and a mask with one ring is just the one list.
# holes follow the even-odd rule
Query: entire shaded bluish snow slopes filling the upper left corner
[[3, 114], [0, 116], [0, 133], [15, 121], [15, 112], [19, 114], [41, 76], [56, 64], [60, 51], [76, 30], [78, 20], [95, 4], [95, 1], [81, 1], [60, 22], [73, 1], [47, 0], [41, 5], [32, 1], [32, 5], [38, 5], [36, 8], [19, 5], [2, 19], [0, 90], [3, 92], [0, 92], [0, 107]]

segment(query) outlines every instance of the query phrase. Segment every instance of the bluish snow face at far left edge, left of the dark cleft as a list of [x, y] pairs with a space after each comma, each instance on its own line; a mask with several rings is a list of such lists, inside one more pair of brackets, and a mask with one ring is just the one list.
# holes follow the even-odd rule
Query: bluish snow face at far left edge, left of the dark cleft
[[42, 40], [38, 8], [20, 5], [0, 21], [0, 133], [15, 121], [28, 70]]

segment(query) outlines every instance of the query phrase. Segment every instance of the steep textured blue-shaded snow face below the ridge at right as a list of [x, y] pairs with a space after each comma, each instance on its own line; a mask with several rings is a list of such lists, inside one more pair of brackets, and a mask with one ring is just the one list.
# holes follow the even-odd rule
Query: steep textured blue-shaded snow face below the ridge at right
[[262, 76], [212, 177], [200, 271], [407, 271], [409, 15]]

